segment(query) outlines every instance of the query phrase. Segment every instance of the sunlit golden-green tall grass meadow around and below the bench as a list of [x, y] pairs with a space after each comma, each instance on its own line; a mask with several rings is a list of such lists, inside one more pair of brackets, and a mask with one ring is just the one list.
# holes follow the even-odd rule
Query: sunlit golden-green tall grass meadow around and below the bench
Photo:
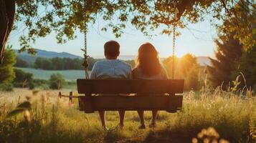
[[[138, 129], [136, 112], [126, 112], [125, 127], [120, 129], [117, 112], [107, 112], [110, 129], [105, 131], [96, 112], [80, 112], [76, 100], [69, 104], [68, 99], [58, 99], [57, 93], [27, 89], [0, 92], [0, 142], [255, 142], [256, 98], [252, 94], [187, 92], [181, 112], [159, 112], [154, 129]], [[24, 101], [32, 103], [32, 109], [6, 117]], [[150, 119], [150, 112], [146, 112], [147, 124]]]

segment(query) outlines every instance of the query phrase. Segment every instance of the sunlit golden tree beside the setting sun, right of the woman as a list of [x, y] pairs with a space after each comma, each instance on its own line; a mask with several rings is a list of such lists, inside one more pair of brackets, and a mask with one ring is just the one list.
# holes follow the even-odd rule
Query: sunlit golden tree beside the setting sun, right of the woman
[[[186, 54], [181, 58], [175, 57], [174, 59], [174, 78], [185, 79], [184, 89], [198, 89], [199, 86], [199, 71], [200, 66], [197, 63], [196, 56]], [[169, 77], [172, 77], [173, 58], [169, 58], [163, 61], [163, 66], [166, 68]]]

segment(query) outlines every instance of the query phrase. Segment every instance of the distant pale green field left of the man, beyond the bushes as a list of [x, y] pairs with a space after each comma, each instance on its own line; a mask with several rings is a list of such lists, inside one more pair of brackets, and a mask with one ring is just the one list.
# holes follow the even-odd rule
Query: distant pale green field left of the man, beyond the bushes
[[85, 78], [85, 71], [83, 70], [43, 70], [43, 69], [30, 69], [30, 68], [17, 68], [25, 72], [34, 74], [34, 79], [49, 79], [51, 74], [60, 73], [66, 80], [75, 81], [77, 79]]

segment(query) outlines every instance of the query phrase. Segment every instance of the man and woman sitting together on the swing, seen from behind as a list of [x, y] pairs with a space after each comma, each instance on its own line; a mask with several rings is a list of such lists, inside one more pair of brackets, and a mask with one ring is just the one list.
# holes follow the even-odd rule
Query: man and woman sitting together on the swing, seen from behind
[[[120, 54], [120, 45], [117, 41], [108, 41], [104, 44], [105, 60], [98, 61], [94, 64], [90, 74], [90, 79], [168, 79], [166, 70], [158, 59], [158, 52], [150, 43], [145, 43], [138, 49], [136, 67], [126, 64], [118, 59]], [[123, 128], [125, 111], [118, 111], [120, 117], [120, 127]], [[99, 111], [100, 121], [105, 127], [105, 111]], [[149, 127], [156, 127], [157, 111], [152, 111], [152, 119]], [[141, 120], [139, 129], [145, 129], [143, 111], [138, 111]]]

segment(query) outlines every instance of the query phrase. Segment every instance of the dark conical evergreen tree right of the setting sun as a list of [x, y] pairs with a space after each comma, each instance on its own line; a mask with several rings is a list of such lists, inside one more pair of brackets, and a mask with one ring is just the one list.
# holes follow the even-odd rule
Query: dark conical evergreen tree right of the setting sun
[[229, 82], [232, 81], [232, 71], [238, 68], [237, 63], [240, 61], [242, 54], [242, 44], [234, 39], [234, 34], [224, 34], [216, 40], [217, 59], [210, 58], [212, 66], [208, 66], [209, 79], [214, 87], [222, 85], [227, 89]]

